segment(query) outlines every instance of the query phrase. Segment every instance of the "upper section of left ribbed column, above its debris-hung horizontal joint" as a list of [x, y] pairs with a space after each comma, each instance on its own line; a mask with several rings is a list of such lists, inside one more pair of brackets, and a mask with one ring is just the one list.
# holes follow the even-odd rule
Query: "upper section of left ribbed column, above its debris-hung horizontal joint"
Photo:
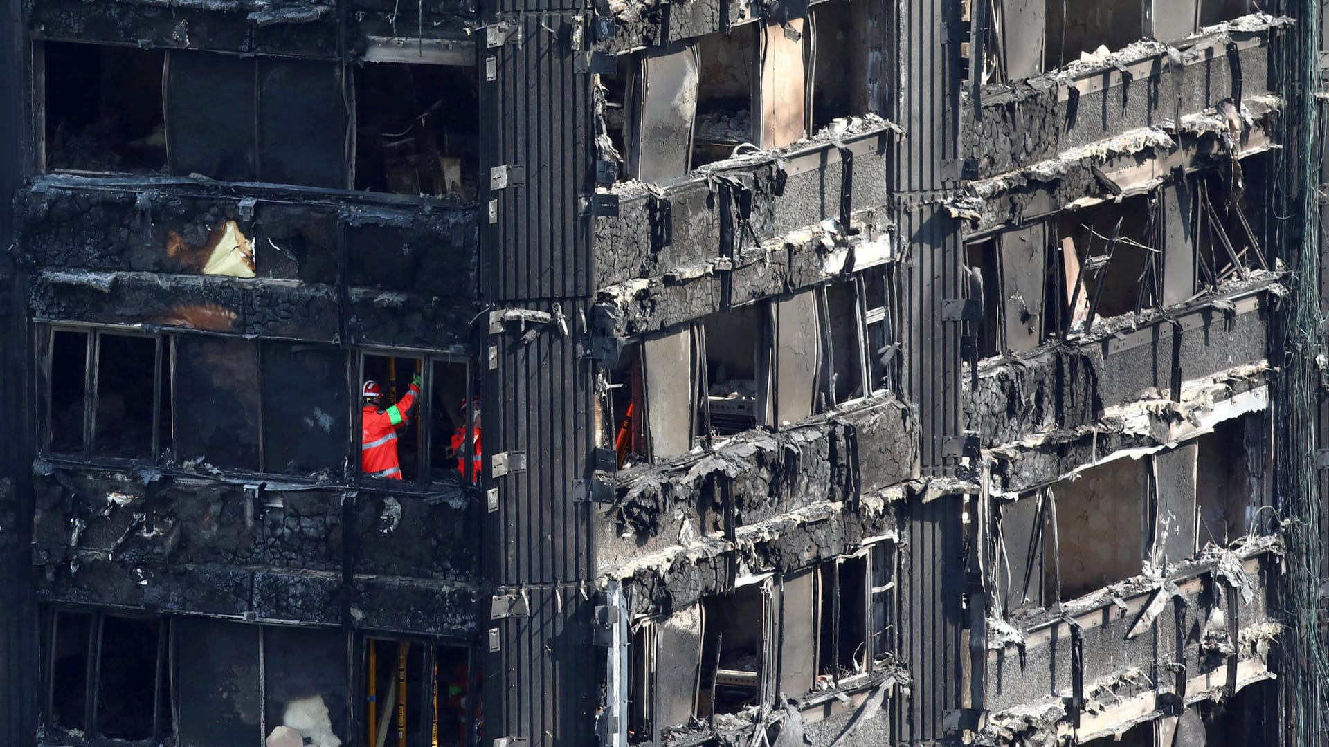
[[[481, 106], [481, 287], [497, 300], [590, 292], [590, 74], [573, 16], [486, 28]], [[488, 76], [486, 76], [488, 77]]]

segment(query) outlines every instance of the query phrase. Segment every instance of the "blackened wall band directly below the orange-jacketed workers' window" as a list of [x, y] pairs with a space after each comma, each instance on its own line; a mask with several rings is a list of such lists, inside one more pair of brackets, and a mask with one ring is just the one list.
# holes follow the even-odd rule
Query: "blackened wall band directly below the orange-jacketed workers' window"
[[[254, 492], [144, 469], [45, 471], [33, 564], [51, 601], [340, 625], [343, 601], [369, 595], [363, 609], [388, 609], [379, 595], [391, 587], [399, 611], [367, 625], [453, 633], [474, 625], [478, 548], [465, 528], [476, 512], [460, 493], [452, 501], [368, 494], [347, 513], [338, 488]], [[350, 589], [344, 573], [356, 578]]]

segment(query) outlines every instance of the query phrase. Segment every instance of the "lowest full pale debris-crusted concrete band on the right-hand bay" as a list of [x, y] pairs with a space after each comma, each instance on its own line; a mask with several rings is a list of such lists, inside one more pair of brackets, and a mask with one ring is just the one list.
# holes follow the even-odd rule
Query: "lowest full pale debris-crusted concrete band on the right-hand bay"
[[[1265, 590], [1278, 573], [1277, 554], [1268, 542], [1212, 550], [1167, 577], [1127, 580], [1066, 602], [1061, 614], [1038, 613], [1041, 622], [1035, 615], [993, 627], [985, 698], [991, 726], [978, 743], [1070, 728], [1074, 637], [1083, 651], [1082, 732], [1124, 731], [1168, 702], [1231, 696], [1233, 685], [1268, 667], [1277, 625]], [[1132, 703], [1147, 707], [1126, 707]]]

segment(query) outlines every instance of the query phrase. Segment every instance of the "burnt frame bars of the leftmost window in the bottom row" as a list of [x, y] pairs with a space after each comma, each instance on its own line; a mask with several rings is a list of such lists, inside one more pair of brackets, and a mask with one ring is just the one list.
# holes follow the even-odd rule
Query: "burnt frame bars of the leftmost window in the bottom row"
[[[73, 744], [94, 744], [104, 740], [113, 740], [117, 744], [158, 744], [162, 742], [163, 728], [162, 728], [162, 710], [170, 708], [174, 702], [174, 685], [171, 682], [170, 662], [173, 661], [171, 642], [173, 642], [173, 618], [171, 615], [155, 615], [136, 610], [109, 610], [109, 609], [86, 609], [76, 607], [68, 605], [51, 605], [44, 610], [44, 619], [41, 630], [45, 631], [45, 639], [43, 641], [43, 647], [40, 649], [41, 659], [41, 696], [40, 696], [40, 716], [43, 724], [45, 724], [48, 732], [57, 731], [58, 736], [52, 744], [73, 743]], [[54, 673], [54, 657], [56, 657], [56, 639], [58, 635], [58, 626], [61, 615], [85, 615], [88, 617], [88, 643], [86, 643], [86, 671], [84, 677], [84, 728], [82, 736], [73, 736], [69, 727], [56, 724], [52, 716], [52, 703], [54, 699], [56, 687], [56, 673]], [[104, 623], [106, 617], [116, 617], [124, 619], [136, 621], [155, 621], [157, 622], [157, 657], [155, 657], [155, 675], [153, 685], [153, 735], [149, 739], [121, 739], [102, 736], [100, 731], [100, 714], [98, 702], [101, 694], [101, 659], [102, 659], [102, 639], [104, 639]], [[175, 732], [175, 720], [173, 714], [171, 720], [171, 736]]]

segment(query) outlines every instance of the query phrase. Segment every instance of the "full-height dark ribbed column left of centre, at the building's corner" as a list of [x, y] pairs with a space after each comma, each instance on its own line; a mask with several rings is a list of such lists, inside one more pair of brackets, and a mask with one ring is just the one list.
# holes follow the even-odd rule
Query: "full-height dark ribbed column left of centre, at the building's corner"
[[486, 743], [589, 744], [590, 74], [583, 17], [490, 8], [478, 37], [489, 476]]

